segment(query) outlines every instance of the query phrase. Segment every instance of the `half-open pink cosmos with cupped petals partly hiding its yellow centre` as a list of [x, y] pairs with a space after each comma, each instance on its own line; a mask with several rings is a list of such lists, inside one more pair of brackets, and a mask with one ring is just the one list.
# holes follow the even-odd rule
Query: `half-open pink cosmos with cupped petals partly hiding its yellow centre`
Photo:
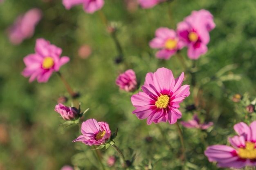
[[101, 145], [106, 143], [110, 139], [111, 131], [106, 122], [99, 121], [95, 119], [88, 119], [82, 123], [81, 132], [83, 135], [80, 135], [76, 141], [81, 141], [86, 145]]

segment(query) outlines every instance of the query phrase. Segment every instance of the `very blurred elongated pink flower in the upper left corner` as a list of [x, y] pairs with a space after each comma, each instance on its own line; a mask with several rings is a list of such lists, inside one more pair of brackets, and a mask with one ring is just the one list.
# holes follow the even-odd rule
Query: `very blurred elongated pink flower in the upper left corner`
[[25, 14], [19, 15], [14, 21], [14, 24], [7, 28], [10, 42], [18, 45], [24, 39], [31, 38], [42, 16], [42, 11], [37, 8], [30, 9]]

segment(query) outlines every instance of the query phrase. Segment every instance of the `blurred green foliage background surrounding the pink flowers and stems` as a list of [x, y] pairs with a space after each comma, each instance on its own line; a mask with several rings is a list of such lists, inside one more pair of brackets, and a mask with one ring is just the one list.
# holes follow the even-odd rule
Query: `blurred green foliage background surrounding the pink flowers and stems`
[[[137, 79], [144, 83], [148, 72], [159, 67], [173, 71], [174, 77], [183, 70], [177, 57], [170, 60], [155, 58], [155, 50], [148, 42], [154, 38], [155, 30], [161, 26], [171, 29], [193, 10], [207, 9], [213, 16], [216, 28], [210, 32], [207, 54], [197, 61], [196, 81], [204, 83], [199, 91], [197, 113], [214, 127], [200, 133], [197, 129], [183, 129], [189, 169], [215, 170], [203, 155], [208, 145], [226, 144], [227, 136], [234, 135], [233, 125], [243, 121], [245, 115], [234, 111], [242, 107], [231, 101], [235, 93], [248, 93], [255, 98], [256, 84], [256, 1], [255, 0], [174, 0], [164, 2], [151, 9], [128, 10], [124, 0], [106, 0], [102, 12], [109, 22], [117, 26], [117, 38], [124, 51], [124, 62], [116, 64], [118, 53], [111, 35], [106, 31], [99, 12], [87, 14], [82, 6], [66, 10], [61, 0], [5, 0], [0, 4], [0, 170], [59, 170], [65, 164], [79, 166], [81, 170], [100, 169], [89, 146], [71, 141], [81, 134], [78, 126], [59, 126], [63, 120], [54, 111], [58, 97], [67, 96], [65, 86], [56, 73], [47, 83], [28, 82], [21, 75], [25, 68], [23, 57], [34, 53], [37, 38], [45, 38], [63, 49], [62, 56], [70, 62], [60, 72], [67, 82], [80, 93], [81, 109], [90, 108], [83, 119], [95, 118], [106, 121], [112, 132], [119, 127], [116, 145], [124, 151], [126, 159], [136, 154], [134, 169], [146, 169], [148, 163], [154, 170], [179, 170], [182, 168], [180, 140], [176, 126], [168, 123], [151, 124], [138, 120], [132, 113], [132, 94], [119, 91], [115, 79], [132, 68]], [[20, 45], [12, 45], [6, 28], [20, 13], [33, 7], [43, 11], [32, 38]], [[81, 45], [88, 44], [92, 54], [87, 59], [78, 55]], [[187, 66], [192, 61], [181, 51]], [[214, 75], [223, 67], [232, 65], [220, 79]], [[190, 84], [190, 75], [184, 84]], [[233, 75], [239, 75], [234, 80]], [[229, 79], [229, 81], [226, 81]], [[210, 80], [210, 81], [209, 81]], [[194, 104], [191, 96], [181, 104], [182, 119], [191, 119], [193, 112], [186, 105]], [[71, 105], [71, 99], [65, 105]], [[164, 140], [171, 143], [168, 146]], [[208, 145], [202, 145], [200, 134]], [[146, 138], [151, 137], [151, 138]], [[150, 140], [146, 140], [150, 139]], [[102, 152], [103, 163], [112, 148]], [[74, 156], [73, 156], [74, 155]], [[117, 166], [110, 169], [119, 169]], [[108, 166], [106, 166], [108, 167]], [[108, 168], [106, 168], [108, 169]]]

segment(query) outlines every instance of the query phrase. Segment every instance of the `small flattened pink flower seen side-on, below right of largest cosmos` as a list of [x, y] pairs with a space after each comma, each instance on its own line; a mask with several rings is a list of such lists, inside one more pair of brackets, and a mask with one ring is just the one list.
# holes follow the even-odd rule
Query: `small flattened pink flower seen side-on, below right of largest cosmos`
[[186, 128], [198, 128], [198, 129], [206, 130], [210, 126], [213, 125], [213, 122], [209, 122], [208, 124], [206, 124], [206, 123], [200, 124], [200, 119], [198, 119], [198, 116], [196, 114], [194, 114], [193, 115], [193, 120], [189, 120], [187, 122], [186, 121], [180, 121], [180, 124], [182, 124]]

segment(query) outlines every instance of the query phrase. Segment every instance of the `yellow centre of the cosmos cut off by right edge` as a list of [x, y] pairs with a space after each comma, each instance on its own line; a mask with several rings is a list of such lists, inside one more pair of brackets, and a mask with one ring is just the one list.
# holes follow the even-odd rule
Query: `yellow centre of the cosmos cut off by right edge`
[[238, 156], [242, 159], [256, 159], [255, 143], [245, 142], [245, 148], [241, 147], [238, 149]]

